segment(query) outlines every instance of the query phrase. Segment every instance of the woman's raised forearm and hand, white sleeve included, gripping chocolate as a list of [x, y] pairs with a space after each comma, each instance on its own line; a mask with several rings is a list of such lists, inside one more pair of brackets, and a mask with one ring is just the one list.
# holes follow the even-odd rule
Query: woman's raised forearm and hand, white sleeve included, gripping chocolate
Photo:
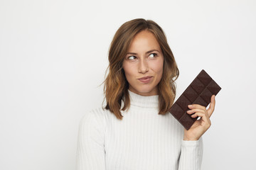
[[215, 95], [210, 98], [210, 107], [193, 104], [188, 106], [191, 110], [187, 111], [192, 118], [201, 117], [196, 120], [189, 130], [184, 129], [184, 136], [181, 142], [181, 155], [179, 158], [178, 170], [199, 170], [203, 159], [203, 133], [210, 128], [210, 115], [215, 108]]

